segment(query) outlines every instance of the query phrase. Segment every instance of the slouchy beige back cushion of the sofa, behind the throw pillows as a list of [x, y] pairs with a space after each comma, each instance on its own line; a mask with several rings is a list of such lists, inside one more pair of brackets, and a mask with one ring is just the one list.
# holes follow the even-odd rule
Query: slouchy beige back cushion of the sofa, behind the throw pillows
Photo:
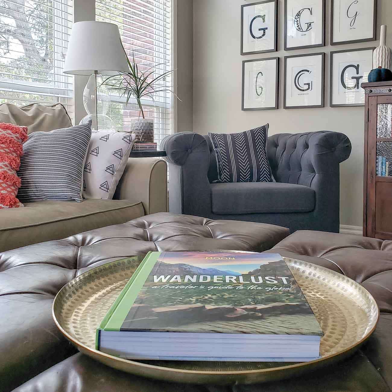
[[28, 128], [28, 134], [72, 126], [71, 118], [61, 103], [53, 105], [30, 103], [30, 105], [22, 107], [13, 103], [2, 103], [0, 105], [0, 122], [24, 125]]

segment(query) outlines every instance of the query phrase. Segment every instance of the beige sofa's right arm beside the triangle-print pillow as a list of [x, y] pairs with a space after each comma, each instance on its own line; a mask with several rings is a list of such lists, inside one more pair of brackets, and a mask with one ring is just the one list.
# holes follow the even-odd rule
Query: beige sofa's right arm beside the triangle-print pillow
[[114, 199], [143, 203], [145, 214], [167, 210], [167, 164], [162, 159], [129, 158]]

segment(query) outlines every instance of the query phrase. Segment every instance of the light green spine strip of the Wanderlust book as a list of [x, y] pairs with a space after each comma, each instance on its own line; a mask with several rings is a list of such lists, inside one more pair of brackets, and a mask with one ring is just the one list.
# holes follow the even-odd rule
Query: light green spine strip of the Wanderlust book
[[129, 312], [129, 308], [133, 305], [160, 254], [161, 252], [148, 252], [139, 267], [132, 274], [131, 279], [129, 279], [96, 330], [96, 350], [99, 350], [100, 330], [120, 330], [120, 327]]

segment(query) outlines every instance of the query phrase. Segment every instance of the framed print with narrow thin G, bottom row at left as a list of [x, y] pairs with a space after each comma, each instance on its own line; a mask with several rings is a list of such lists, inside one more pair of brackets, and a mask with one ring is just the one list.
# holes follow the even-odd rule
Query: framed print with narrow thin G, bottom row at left
[[278, 109], [279, 58], [242, 62], [242, 110]]

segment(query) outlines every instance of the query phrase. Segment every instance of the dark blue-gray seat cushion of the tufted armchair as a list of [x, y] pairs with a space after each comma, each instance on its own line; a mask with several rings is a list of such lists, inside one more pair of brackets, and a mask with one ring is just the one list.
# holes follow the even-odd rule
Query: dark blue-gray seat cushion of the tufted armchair
[[312, 188], [281, 182], [211, 184], [214, 214], [309, 212], [314, 210]]

